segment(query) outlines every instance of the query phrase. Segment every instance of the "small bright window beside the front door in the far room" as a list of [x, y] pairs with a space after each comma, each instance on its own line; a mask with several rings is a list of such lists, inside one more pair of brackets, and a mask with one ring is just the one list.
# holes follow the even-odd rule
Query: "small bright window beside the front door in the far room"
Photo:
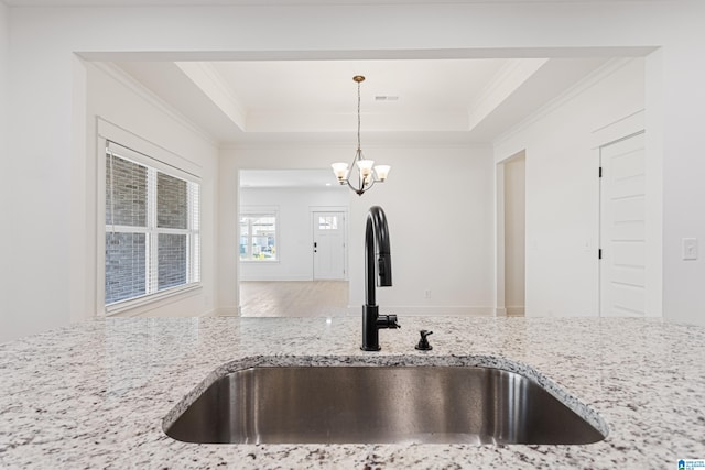
[[276, 261], [276, 212], [240, 216], [240, 261]]

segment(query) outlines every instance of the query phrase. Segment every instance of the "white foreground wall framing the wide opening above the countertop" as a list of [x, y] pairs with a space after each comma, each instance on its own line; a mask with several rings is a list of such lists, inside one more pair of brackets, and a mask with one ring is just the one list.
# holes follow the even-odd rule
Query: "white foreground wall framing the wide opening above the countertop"
[[[70, 240], [72, 233], [86, 231], [80, 216], [85, 207], [70, 189], [75, 183], [70, 168], [80, 166], [87, 152], [83, 141], [76, 145], [73, 110], [75, 99], [80, 100], [82, 77], [76, 77], [74, 52], [93, 58], [105, 58], [107, 52], [140, 51], [152, 52], [153, 57], [170, 52], [182, 58], [180, 52], [192, 57], [216, 52], [213, 56], [376, 58], [433, 57], [448, 55], [447, 51], [467, 57], [586, 55], [605, 53], [595, 50], [601, 46], [662, 46], [661, 79], [647, 77], [647, 84], [661, 84], [664, 91], [663, 311], [670, 319], [705, 323], [705, 291], [693, 288], [705, 278], [705, 261], [680, 260], [683, 237], [705, 240], [705, 218], [693, 216], [702, 211], [705, 200], [701, 182], [705, 161], [697, 159], [705, 147], [705, 133], [698, 129], [705, 113], [702, 18], [705, 2], [699, 0], [12, 8], [12, 120], [2, 171], [12, 175], [6, 194], [22, 204], [4, 212], [8, 225], [17, 227], [9, 234], [13, 250], [3, 259], [2, 282], [9, 289], [2, 309], [12, 324], [4, 335], [18, 337], [66, 325], [75, 304], [70, 293], [91, 275], [86, 263], [74, 261], [85, 256]], [[364, 35], [359, 24], [365, 24]], [[529, 160], [527, 164], [529, 173]], [[219, 178], [227, 177], [234, 176], [219, 173]], [[67, 212], [76, 216], [67, 218]], [[236, 232], [230, 222], [224, 230]], [[217, 253], [223, 261], [218, 305], [227, 308], [234, 296], [221, 291], [230, 282], [221, 274], [231, 271], [237, 251], [219, 249], [224, 251]]]

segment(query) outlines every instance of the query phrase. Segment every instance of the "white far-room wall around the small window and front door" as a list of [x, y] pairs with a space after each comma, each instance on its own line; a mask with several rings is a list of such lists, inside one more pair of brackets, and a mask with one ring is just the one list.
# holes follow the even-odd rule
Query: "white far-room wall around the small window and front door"
[[[330, 172], [330, 182], [335, 177]], [[240, 188], [240, 207], [275, 207], [279, 239], [274, 263], [240, 263], [240, 281], [312, 281], [312, 207], [348, 207], [349, 192], [330, 188]], [[322, 209], [323, 210], [323, 209]], [[237, 242], [237, 240], [236, 240]]]

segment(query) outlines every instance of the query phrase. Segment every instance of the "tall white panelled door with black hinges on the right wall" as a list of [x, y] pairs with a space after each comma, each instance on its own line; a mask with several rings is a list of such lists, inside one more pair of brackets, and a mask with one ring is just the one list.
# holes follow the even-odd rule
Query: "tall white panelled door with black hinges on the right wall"
[[643, 132], [600, 147], [600, 316], [646, 310]]

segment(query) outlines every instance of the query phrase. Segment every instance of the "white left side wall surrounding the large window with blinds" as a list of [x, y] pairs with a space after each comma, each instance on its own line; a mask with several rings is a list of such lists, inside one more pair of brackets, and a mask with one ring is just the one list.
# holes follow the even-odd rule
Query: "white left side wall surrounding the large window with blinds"
[[[163, 304], [151, 304], [132, 311], [124, 311], [121, 315], [135, 315], [140, 313], [147, 316], [197, 316], [210, 313], [215, 302], [215, 244], [216, 244], [216, 210], [217, 207], [217, 166], [218, 150], [213, 142], [192, 128], [177, 114], [154, 100], [151, 95], [135, 87], [129, 78], [112, 68], [85, 63], [86, 73], [86, 114], [83, 121], [86, 123], [86, 160], [83, 165], [83, 179], [85, 187], [82, 197], [85, 210], [85, 240], [83, 234], [78, 234], [79, 245], [84, 247], [83, 254], [86, 270], [96, 269], [97, 249], [96, 240], [101, 232], [97, 231], [97, 211], [95, 201], [98, 199], [97, 190], [105, 190], [105, 183], [100, 179], [98, 172], [98, 159], [104, 157], [104, 153], [98, 153], [97, 128], [98, 120], [109, 122], [110, 127], [127, 131], [127, 134], [135, 135], [137, 142], [143, 141], [148, 144], [163, 149], [173, 154], [176, 160], [184, 159], [184, 164], [191, 165], [186, 170], [197, 173], [200, 176], [202, 197], [202, 286], [200, 291], [191, 293], [182, 297], [171, 298]], [[115, 139], [118, 143], [130, 146], [130, 142], [120, 140], [122, 133], [105, 135]], [[131, 138], [126, 135], [126, 138]], [[90, 152], [90, 149], [95, 149]], [[153, 155], [159, 156], [159, 155]], [[77, 182], [77, 186], [78, 182]], [[79, 201], [76, 201], [79, 204]], [[74, 240], [75, 242], [75, 240]], [[80, 270], [76, 270], [76, 276], [80, 275]], [[96, 292], [98, 289], [95, 276], [86, 277], [82, 284], [75, 284], [74, 295], [75, 311], [79, 315], [77, 319], [88, 318], [100, 311], [96, 310]], [[83, 305], [82, 305], [83, 299]]]

